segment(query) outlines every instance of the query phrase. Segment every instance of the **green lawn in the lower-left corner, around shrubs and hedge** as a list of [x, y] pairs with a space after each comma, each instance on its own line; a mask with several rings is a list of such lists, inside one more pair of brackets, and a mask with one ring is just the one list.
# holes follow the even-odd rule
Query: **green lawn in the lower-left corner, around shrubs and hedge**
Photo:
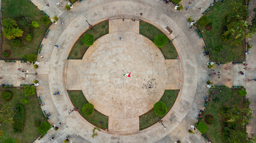
[[40, 132], [38, 132], [37, 127], [35, 126], [35, 120], [40, 120], [41, 123], [45, 121], [43, 113], [39, 107], [37, 95], [29, 95], [25, 97], [24, 90], [17, 88], [0, 88], [0, 95], [2, 92], [9, 90], [13, 92], [13, 98], [10, 101], [4, 101], [0, 98], [0, 105], [11, 104], [11, 107], [15, 107], [16, 104], [19, 104], [23, 98], [29, 98], [28, 104], [23, 104], [25, 107], [25, 126], [22, 133], [13, 132], [13, 123], [3, 122], [1, 123], [1, 129], [4, 130], [4, 139], [3, 142], [12, 143], [14, 138], [20, 142], [33, 142], [38, 138]]

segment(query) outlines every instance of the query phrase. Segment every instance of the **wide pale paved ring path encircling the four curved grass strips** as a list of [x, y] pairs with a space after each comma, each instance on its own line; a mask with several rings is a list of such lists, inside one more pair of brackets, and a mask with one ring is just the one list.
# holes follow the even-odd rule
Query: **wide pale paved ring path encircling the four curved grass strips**
[[[62, 125], [58, 132], [50, 131], [40, 142], [49, 142], [52, 136], [55, 136], [56, 141], [62, 142], [67, 135], [70, 135], [71, 141], [74, 142], [156, 142], [159, 139], [161, 139], [159, 142], [177, 141], [177, 139], [182, 142], [203, 142], [200, 135], [189, 134], [188, 129], [196, 121], [197, 109], [203, 106], [201, 97], [206, 94], [203, 88], [207, 81], [204, 76], [207, 74], [204, 66], [207, 59], [201, 53], [203, 41], [198, 38], [194, 30], [188, 29], [185, 14], [162, 8], [162, 3], [158, 1], [91, 1], [89, 5], [86, 1], [82, 1], [76, 2], [73, 7], [73, 10], [58, 15], [65, 25], [53, 24], [48, 38], [42, 42], [44, 58], [38, 59], [40, 62], [40, 67], [37, 69], [40, 80], [38, 95], [46, 103], [42, 107], [43, 110], [52, 114], [49, 122], [52, 124], [62, 122]], [[142, 16], [140, 16], [141, 12], [143, 12]], [[91, 138], [93, 125], [83, 119], [79, 113], [67, 115], [68, 110], [73, 108], [65, 87], [64, 69], [67, 66], [68, 53], [74, 42], [88, 28], [85, 20], [95, 24], [106, 18], [122, 17], [141, 18], [163, 32], [164, 27], [168, 26], [173, 30], [170, 38], [178, 36], [173, 43], [180, 57], [182, 77], [180, 94], [163, 119], [167, 130], [163, 130], [161, 124], [155, 124], [129, 135], [118, 135], [102, 130], [97, 137]], [[60, 49], [53, 48], [54, 45], [59, 45]], [[52, 95], [56, 91], [61, 95]]]

